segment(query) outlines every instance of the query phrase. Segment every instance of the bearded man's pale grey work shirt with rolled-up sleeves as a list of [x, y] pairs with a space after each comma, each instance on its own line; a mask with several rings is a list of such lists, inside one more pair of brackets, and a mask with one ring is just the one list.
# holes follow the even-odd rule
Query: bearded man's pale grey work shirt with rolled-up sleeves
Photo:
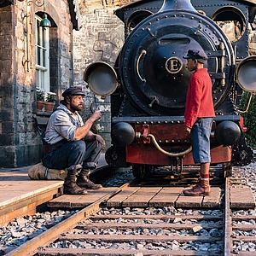
[[82, 125], [84, 122], [79, 113], [72, 113], [61, 104], [49, 117], [44, 140], [49, 144], [58, 143], [63, 139], [74, 141], [75, 131]]

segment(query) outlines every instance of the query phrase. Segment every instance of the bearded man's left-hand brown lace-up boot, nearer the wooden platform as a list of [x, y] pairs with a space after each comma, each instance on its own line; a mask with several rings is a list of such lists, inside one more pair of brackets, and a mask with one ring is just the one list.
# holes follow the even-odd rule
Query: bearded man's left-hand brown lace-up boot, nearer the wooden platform
[[68, 195], [85, 195], [87, 192], [76, 183], [76, 175], [81, 166], [70, 166], [67, 168], [67, 177], [64, 183], [64, 193]]

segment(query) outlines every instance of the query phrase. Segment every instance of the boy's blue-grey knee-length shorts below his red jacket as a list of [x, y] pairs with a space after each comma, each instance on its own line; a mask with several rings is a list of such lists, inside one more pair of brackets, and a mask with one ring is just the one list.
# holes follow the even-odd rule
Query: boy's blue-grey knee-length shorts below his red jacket
[[191, 129], [192, 154], [195, 164], [210, 163], [210, 134], [213, 118], [196, 119]]

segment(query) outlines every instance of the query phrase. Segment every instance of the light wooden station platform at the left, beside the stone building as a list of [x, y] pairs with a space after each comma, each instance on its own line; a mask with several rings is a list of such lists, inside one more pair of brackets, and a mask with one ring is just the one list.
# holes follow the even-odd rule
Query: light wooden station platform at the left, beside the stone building
[[[104, 154], [99, 167], [106, 165]], [[61, 180], [31, 180], [32, 166], [0, 169], [0, 226], [10, 220], [47, 209], [47, 202], [63, 195]]]

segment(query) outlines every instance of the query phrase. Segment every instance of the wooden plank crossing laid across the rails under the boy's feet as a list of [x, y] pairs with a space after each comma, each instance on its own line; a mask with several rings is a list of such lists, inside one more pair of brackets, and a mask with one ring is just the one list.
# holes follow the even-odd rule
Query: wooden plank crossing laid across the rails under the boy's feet
[[[188, 208], [220, 208], [221, 189], [212, 187], [210, 195], [185, 196], [183, 187], [163, 188], [163, 187], [129, 187], [114, 195], [106, 203], [106, 207], [188, 207]], [[186, 188], [187, 189], [187, 188]], [[93, 201], [107, 195], [111, 188], [102, 188], [97, 191], [89, 190], [87, 195], [61, 195], [48, 202], [48, 207], [56, 208], [82, 208], [90, 205]], [[253, 193], [249, 188], [245, 188], [247, 200], [241, 200], [237, 196], [236, 189], [230, 189], [230, 207], [253, 208], [255, 201]], [[251, 192], [251, 193], [249, 193]], [[240, 193], [242, 194], [242, 193]], [[105, 204], [104, 204], [105, 205]]]

